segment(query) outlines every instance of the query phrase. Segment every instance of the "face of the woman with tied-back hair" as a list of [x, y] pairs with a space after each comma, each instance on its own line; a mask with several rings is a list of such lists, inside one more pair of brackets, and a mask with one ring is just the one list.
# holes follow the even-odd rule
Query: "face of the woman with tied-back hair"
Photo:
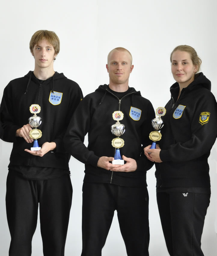
[[179, 86], [184, 88], [193, 82], [197, 68], [197, 65], [194, 65], [191, 60], [190, 53], [180, 50], [173, 52], [171, 71]]

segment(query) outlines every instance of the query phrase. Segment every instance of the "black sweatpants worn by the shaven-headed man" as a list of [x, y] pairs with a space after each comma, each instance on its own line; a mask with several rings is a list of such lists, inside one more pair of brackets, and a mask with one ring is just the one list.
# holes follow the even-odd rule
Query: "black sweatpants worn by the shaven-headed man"
[[84, 182], [81, 256], [102, 255], [115, 210], [127, 255], [149, 255], [147, 188]]

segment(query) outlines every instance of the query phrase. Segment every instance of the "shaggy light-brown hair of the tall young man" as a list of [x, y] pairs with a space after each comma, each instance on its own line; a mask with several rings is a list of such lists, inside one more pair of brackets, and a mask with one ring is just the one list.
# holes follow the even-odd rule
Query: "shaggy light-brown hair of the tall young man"
[[55, 55], [60, 52], [60, 39], [58, 36], [53, 31], [38, 30], [33, 34], [29, 42], [29, 49], [31, 53], [33, 53], [34, 46], [38, 45], [43, 39], [47, 40], [47, 42], [53, 46]]

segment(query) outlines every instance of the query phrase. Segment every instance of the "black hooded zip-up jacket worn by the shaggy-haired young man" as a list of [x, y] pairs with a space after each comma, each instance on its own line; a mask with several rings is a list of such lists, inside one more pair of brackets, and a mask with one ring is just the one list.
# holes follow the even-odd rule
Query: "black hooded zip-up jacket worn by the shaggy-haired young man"
[[[81, 101], [82, 92], [77, 83], [66, 78], [63, 73], [57, 73], [40, 84], [32, 71], [24, 77], [12, 80], [4, 89], [0, 107], [0, 120], [3, 128], [2, 139], [13, 142], [9, 167], [34, 166], [53, 167], [69, 170], [70, 155], [63, 148], [63, 135], [66, 131], [72, 114]], [[58, 97], [58, 105], [50, 103], [52, 92], [62, 93]], [[54, 100], [54, 99], [53, 99]], [[52, 100], [51, 100], [52, 102]], [[38, 129], [42, 136], [38, 139], [41, 146], [44, 142], [55, 142], [57, 148], [47, 152], [43, 157], [35, 157], [24, 151], [31, 148], [23, 138], [16, 137], [17, 129], [27, 124], [30, 113], [29, 107], [38, 104], [41, 112], [37, 114], [42, 119]]]

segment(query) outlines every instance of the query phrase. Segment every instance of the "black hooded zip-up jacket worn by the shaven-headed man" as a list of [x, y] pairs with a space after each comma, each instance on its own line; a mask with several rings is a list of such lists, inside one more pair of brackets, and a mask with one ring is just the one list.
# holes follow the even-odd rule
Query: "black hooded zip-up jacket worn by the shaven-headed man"
[[[131, 107], [141, 110], [139, 120], [130, 117]], [[114, 157], [111, 125], [114, 111], [120, 110], [125, 125], [124, 147], [121, 155], [133, 158], [137, 163], [134, 172], [112, 172], [97, 167], [101, 156]], [[144, 155], [142, 145], [150, 144], [151, 120], [155, 117], [151, 102], [143, 98], [134, 88], [120, 100], [112, 94], [107, 85], [101, 85], [95, 92], [87, 95], [76, 109], [64, 137], [66, 150], [85, 164], [84, 182], [113, 183], [121, 186], [147, 186], [146, 171], [152, 167]], [[134, 118], [136, 119], [136, 118]], [[88, 133], [88, 146], [84, 145], [84, 136]], [[141, 155], [142, 153], [142, 155]]]

